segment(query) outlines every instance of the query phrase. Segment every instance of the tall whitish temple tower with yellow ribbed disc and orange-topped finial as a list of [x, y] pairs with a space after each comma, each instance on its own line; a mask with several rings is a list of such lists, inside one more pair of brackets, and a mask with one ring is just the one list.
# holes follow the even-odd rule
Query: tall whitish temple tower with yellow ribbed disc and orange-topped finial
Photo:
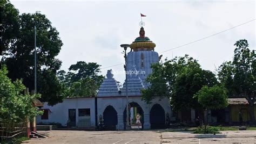
[[131, 52], [127, 54], [127, 71], [137, 70], [138, 77], [142, 80], [143, 85], [146, 77], [152, 73], [151, 64], [159, 62], [157, 52], [154, 52], [154, 44], [148, 37], [145, 37], [144, 28], [141, 27], [139, 37], [130, 45]]

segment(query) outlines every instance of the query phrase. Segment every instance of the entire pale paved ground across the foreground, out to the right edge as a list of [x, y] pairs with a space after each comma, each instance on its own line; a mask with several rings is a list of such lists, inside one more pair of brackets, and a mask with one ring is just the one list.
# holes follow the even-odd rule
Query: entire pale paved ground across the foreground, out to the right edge
[[48, 138], [24, 143], [256, 143], [256, 131], [221, 131], [192, 134], [188, 131], [38, 131]]

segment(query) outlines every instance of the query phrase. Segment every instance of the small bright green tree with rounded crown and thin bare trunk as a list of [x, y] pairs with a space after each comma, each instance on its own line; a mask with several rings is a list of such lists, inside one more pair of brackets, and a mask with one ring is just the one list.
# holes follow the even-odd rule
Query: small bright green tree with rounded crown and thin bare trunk
[[207, 110], [223, 109], [228, 106], [227, 92], [224, 87], [214, 85], [213, 87], [202, 87], [193, 98], [198, 99], [198, 103], [203, 106], [205, 119], [205, 132], [207, 125]]

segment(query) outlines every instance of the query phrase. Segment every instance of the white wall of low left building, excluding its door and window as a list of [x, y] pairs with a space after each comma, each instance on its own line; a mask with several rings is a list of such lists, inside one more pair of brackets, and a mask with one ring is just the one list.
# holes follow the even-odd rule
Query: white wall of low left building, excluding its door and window
[[78, 117], [78, 109], [90, 109], [90, 126], [95, 126], [95, 98], [65, 98], [62, 103], [54, 106], [49, 106], [45, 102], [41, 109], [49, 109], [50, 112], [48, 112], [48, 119], [41, 119], [41, 116], [37, 116], [37, 123], [60, 123], [63, 126], [66, 126], [69, 119], [69, 109], [76, 109], [77, 126], [81, 119]]

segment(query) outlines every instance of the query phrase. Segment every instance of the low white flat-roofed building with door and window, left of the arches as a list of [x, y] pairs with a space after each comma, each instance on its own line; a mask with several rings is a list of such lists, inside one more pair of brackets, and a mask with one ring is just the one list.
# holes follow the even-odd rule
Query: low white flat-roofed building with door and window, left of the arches
[[65, 98], [62, 103], [49, 106], [44, 103], [42, 116], [37, 116], [37, 123], [60, 123], [66, 127], [90, 128], [96, 126], [95, 98]]

